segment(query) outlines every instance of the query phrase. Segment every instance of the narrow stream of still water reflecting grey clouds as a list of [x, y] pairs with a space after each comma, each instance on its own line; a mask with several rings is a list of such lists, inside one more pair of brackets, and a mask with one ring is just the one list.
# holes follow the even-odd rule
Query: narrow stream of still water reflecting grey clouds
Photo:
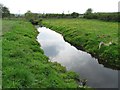
[[90, 54], [77, 50], [65, 42], [62, 35], [45, 27], [38, 28], [37, 40], [51, 61], [57, 61], [67, 70], [75, 71], [86, 78], [87, 85], [95, 88], [117, 88], [118, 71], [105, 68]]

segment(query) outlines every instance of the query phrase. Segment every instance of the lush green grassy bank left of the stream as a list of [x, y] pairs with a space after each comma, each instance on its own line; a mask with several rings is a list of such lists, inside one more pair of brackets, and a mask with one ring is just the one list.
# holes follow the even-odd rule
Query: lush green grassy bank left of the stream
[[73, 72], [48, 61], [29, 22], [3, 20], [3, 88], [77, 88]]

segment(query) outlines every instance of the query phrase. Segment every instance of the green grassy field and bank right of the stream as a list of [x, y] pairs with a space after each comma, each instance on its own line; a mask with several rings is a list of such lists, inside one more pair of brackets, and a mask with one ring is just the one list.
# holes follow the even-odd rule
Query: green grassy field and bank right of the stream
[[[99, 58], [99, 63], [105, 67], [120, 69], [117, 22], [87, 19], [45, 19], [43, 25], [61, 33], [66, 41], [78, 49]], [[101, 42], [104, 45], [100, 45]]]

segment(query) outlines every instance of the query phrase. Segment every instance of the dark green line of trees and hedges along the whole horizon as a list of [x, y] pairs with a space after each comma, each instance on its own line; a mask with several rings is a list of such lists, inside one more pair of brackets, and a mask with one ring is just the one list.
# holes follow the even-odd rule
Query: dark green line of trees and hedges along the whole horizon
[[[15, 18], [15, 14], [11, 14], [9, 9], [0, 4], [0, 13], [2, 13], [2, 18]], [[99, 19], [104, 21], [116, 21], [120, 22], [120, 12], [113, 12], [113, 13], [93, 13], [93, 10], [91, 8], [88, 8], [84, 14], [79, 14], [77, 12], [73, 12], [70, 14], [53, 14], [53, 13], [47, 13], [47, 14], [39, 14], [39, 13], [32, 13], [30, 10], [27, 11], [24, 15], [20, 16], [17, 15], [17, 17], [26, 18], [27, 20], [31, 22], [38, 22], [41, 21], [42, 18], [86, 18], [86, 19]]]

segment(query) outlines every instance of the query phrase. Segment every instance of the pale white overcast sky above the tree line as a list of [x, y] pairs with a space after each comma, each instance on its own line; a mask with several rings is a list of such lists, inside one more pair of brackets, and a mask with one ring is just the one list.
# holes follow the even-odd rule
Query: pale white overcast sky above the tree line
[[11, 13], [23, 14], [30, 10], [36, 13], [84, 13], [88, 8], [93, 12], [117, 12], [120, 0], [0, 0]]

